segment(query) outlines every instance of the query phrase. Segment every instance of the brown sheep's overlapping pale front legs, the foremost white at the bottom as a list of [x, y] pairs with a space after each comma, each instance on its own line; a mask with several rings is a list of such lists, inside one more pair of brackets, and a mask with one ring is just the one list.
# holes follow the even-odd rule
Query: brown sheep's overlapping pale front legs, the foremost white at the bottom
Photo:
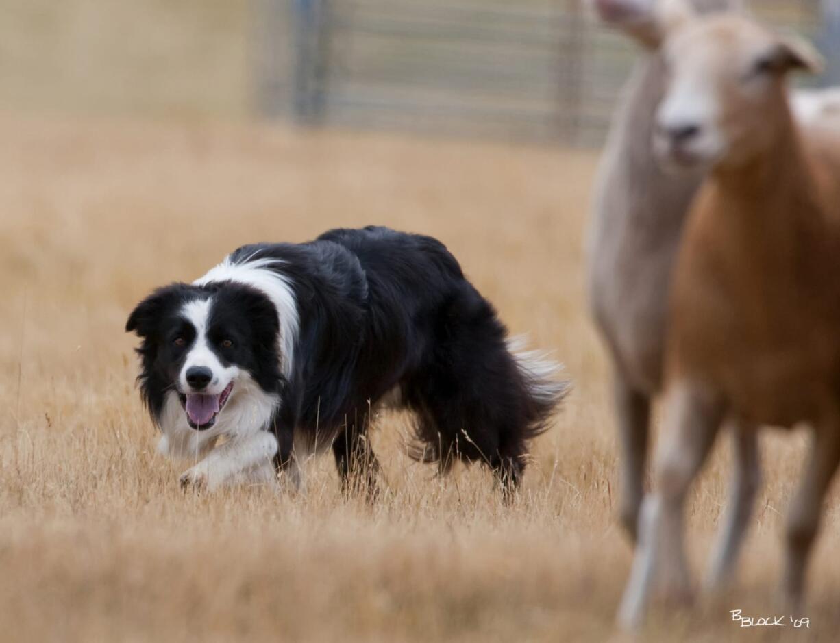
[[689, 594], [683, 505], [724, 411], [717, 396], [685, 384], [672, 387], [665, 404], [665, 441], [657, 459], [656, 489], [643, 503], [633, 568], [618, 611], [619, 625], [624, 628], [641, 623], [654, 583], [660, 583], [672, 598]]

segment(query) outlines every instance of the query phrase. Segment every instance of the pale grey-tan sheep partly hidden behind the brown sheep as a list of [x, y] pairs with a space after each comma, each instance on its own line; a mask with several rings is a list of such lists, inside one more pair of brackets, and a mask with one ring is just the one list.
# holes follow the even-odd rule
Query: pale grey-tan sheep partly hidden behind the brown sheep
[[[664, 172], [651, 149], [654, 113], [664, 92], [659, 40], [664, 19], [654, 0], [591, 0], [606, 24], [636, 39], [643, 55], [622, 91], [596, 180], [588, 235], [589, 296], [596, 325], [612, 358], [614, 404], [621, 444], [622, 525], [635, 539], [644, 494], [648, 425], [662, 384], [667, 294], [683, 222], [704, 173]], [[694, 0], [701, 11], [734, 0]], [[813, 107], [812, 107], [813, 109]], [[723, 584], [759, 486], [753, 432], [735, 436], [735, 453], [748, 472], [734, 485], [710, 578]]]

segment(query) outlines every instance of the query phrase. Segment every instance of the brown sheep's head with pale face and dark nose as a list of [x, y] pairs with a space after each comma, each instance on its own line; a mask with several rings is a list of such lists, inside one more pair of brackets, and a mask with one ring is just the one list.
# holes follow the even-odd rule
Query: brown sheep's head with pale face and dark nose
[[666, 165], [738, 165], [773, 144], [790, 118], [785, 76], [817, 71], [811, 45], [734, 15], [690, 18], [664, 42], [668, 86], [654, 151]]

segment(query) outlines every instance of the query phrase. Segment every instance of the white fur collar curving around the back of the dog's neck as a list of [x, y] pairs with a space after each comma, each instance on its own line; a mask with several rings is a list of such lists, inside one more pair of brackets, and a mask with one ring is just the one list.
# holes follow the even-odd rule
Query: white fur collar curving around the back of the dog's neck
[[289, 278], [285, 274], [272, 269], [272, 266], [282, 263], [281, 259], [263, 258], [247, 259], [242, 263], [234, 264], [228, 256], [224, 258], [221, 264], [218, 264], [203, 277], [192, 283], [194, 285], [207, 285], [213, 281], [235, 281], [260, 290], [268, 297], [274, 304], [280, 320], [281, 371], [286, 377], [289, 377], [300, 319]]

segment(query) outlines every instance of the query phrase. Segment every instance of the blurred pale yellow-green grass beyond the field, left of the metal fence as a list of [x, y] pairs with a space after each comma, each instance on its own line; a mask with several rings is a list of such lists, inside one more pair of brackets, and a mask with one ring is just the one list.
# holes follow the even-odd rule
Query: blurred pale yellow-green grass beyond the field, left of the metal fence
[[244, 116], [255, 107], [255, 4], [6, 0], [0, 105], [52, 114]]

